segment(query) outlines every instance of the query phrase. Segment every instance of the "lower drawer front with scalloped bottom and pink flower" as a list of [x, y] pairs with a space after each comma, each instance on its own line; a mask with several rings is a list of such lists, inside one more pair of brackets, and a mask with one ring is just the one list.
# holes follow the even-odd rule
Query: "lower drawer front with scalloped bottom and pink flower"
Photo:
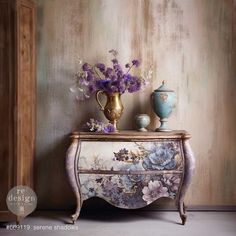
[[175, 198], [182, 174], [80, 174], [82, 199], [100, 197], [120, 208], [141, 208], [158, 198]]

